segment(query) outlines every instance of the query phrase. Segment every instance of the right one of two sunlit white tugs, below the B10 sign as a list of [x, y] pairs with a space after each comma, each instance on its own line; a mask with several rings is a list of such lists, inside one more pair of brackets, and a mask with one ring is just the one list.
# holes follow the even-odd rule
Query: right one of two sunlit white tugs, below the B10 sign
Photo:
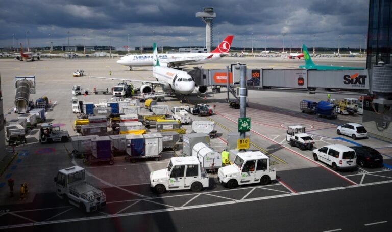
[[260, 151], [230, 150], [234, 163], [218, 169], [218, 181], [225, 187], [260, 183], [269, 184], [276, 179], [276, 169], [269, 166], [269, 157]]

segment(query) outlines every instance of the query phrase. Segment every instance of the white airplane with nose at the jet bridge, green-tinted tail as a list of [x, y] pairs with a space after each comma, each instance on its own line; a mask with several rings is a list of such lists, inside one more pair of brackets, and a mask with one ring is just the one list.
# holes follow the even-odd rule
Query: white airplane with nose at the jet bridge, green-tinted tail
[[189, 95], [194, 90], [199, 94], [207, 93], [207, 86], [195, 86], [194, 79], [187, 72], [174, 68], [160, 66], [158, 50], [155, 43], [153, 45], [153, 48], [153, 76], [157, 79], [157, 81], [134, 79], [131, 80], [94, 76], [92, 76], [92, 78], [142, 82], [143, 85], [140, 87], [140, 92], [143, 94], [151, 94], [154, 88], [159, 85], [166, 92], [175, 92], [180, 94], [182, 96], [182, 103], [185, 103], [185, 95]]

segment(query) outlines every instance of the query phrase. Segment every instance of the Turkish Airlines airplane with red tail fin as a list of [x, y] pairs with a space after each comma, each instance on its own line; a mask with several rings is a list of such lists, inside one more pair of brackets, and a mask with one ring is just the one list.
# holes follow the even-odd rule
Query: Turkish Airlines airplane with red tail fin
[[[231, 42], [233, 41], [232, 35], [227, 36], [219, 46], [210, 53], [178, 53], [178, 54], [158, 54], [158, 59], [162, 66], [178, 67], [183, 65], [196, 65], [204, 64], [207, 62], [215, 61], [229, 54]], [[153, 55], [127, 55], [121, 57], [117, 61], [118, 64], [132, 67], [152, 66]]]

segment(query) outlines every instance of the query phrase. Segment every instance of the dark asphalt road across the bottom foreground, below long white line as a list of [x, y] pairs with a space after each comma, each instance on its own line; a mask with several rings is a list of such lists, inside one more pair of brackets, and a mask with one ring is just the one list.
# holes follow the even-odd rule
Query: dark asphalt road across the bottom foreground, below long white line
[[[215, 207], [96, 217], [28, 231], [389, 231], [392, 183], [303, 192]], [[200, 208], [199, 208], [200, 207]], [[21, 231], [13, 228], [9, 231]]]

